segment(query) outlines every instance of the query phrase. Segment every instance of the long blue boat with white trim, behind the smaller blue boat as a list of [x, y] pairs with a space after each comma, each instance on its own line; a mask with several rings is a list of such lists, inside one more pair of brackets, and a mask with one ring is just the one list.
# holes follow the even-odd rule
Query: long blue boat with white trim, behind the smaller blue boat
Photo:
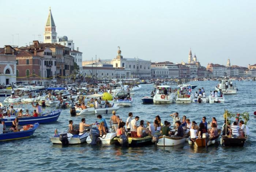
[[[18, 117], [19, 118], [19, 125], [27, 125], [27, 124], [44, 124], [44, 123], [51, 123], [56, 122], [61, 114], [61, 110], [55, 110], [50, 113], [44, 113], [40, 117]], [[5, 117], [2, 121], [5, 121], [6, 126], [11, 126], [12, 121], [14, 121], [16, 116]]]

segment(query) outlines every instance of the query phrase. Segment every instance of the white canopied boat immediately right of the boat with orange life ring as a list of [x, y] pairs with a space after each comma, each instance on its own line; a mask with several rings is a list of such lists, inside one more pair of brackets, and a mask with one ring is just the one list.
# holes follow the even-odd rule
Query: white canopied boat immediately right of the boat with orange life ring
[[[183, 87], [183, 88], [182, 88]], [[182, 92], [180, 91], [182, 88]], [[194, 94], [192, 92], [192, 85], [183, 84], [178, 85], [178, 92], [176, 96], [176, 103], [191, 103], [194, 99]]]

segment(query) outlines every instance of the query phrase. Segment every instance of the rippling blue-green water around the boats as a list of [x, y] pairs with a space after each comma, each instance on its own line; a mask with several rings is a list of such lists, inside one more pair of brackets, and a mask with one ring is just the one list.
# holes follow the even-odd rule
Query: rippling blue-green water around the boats
[[[217, 81], [191, 82], [204, 87], [207, 94], [213, 90]], [[235, 81], [239, 91], [236, 95], [226, 95], [224, 104], [142, 104], [141, 98], [149, 96], [152, 84], [142, 85], [142, 89], [136, 92], [132, 107], [120, 108], [117, 115], [126, 121], [129, 112], [133, 117], [139, 116], [140, 120], [153, 122], [156, 115], [160, 115], [162, 121], [172, 122], [170, 114], [178, 112], [180, 116], [186, 115], [191, 121], [199, 123], [203, 116], [207, 121], [216, 117], [218, 125], [223, 125], [224, 109], [232, 112], [250, 113], [250, 138], [244, 147], [223, 147], [220, 144], [206, 148], [197, 148], [187, 142], [174, 147], [144, 147], [122, 148], [116, 145], [89, 146], [71, 145], [62, 147], [53, 145], [50, 137], [55, 129], [65, 131], [68, 129], [68, 121], [73, 120], [78, 124], [83, 117], [86, 123], [94, 123], [95, 115], [70, 117], [69, 109], [61, 112], [58, 121], [53, 124], [40, 125], [34, 135], [27, 139], [0, 142], [3, 171], [254, 171], [256, 155], [255, 136], [253, 127], [256, 111], [256, 82]], [[198, 89], [195, 89], [196, 91]], [[3, 102], [4, 98], [0, 98]], [[29, 105], [30, 109], [31, 105]], [[24, 108], [24, 107], [23, 107]], [[45, 111], [49, 109], [44, 109]], [[104, 115], [108, 124], [111, 115]]]

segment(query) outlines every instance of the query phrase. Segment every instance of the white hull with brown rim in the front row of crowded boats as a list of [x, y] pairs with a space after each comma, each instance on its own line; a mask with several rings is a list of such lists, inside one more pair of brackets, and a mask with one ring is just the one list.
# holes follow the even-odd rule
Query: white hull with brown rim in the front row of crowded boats
[[176, 146], [186, 142], [186, 137], [168, 137], [166, 135], [158, 137], [157, 146]]

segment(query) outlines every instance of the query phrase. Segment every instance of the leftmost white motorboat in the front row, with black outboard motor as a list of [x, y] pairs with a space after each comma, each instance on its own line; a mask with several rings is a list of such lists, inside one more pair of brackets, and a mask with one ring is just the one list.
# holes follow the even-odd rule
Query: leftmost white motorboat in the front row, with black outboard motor
[[[74, 125], [74, 130], [78, 129], [79, 131], [79, 125]], [[86, 142], [87, 137], [89, 136], [90, 128], [86, 127], [84, 133], [79, 134], [71, 134], [68, 132], [62, 132], [62, 133], [55, 133], [54, 136], [50, 138], [53, 144], [62, 144], [62, 140], [64, 137], [68, 140], [68, 144], [81, 144]]]

